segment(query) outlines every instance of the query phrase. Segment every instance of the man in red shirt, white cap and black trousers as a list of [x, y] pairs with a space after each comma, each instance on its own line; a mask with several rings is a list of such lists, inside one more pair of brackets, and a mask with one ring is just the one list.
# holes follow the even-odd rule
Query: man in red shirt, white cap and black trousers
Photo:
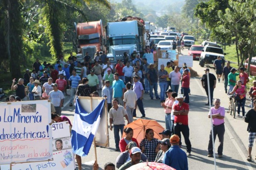
[[[179, 101], [178, 104], [174, 105], [173, 107], [173, 114], [175, 115], [174, 117], [174, 133], [175, 135], [178, 135], [181, 139], [181, 134], [182, 132], [186, 147], [187, 147], [187, 156], [191, 156], [191, 143], [189, 140], [189, 105], [183, 102], [183, 95], [179, 94], [177, 96], [177, 100]], [[181, 146], [181, 140], [180, 144]]]

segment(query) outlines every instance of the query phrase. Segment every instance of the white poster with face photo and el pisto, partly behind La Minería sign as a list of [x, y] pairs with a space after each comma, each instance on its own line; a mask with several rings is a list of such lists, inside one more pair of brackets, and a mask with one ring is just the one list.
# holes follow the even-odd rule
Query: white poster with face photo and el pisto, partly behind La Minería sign
[[[53, 161], [11, 164], [12, 170], [74, 170], [68, 122], [52, 124], [52, 137]], [[10, 170], [10, 164], [1, 165], [0, 167], [1, 170]]]

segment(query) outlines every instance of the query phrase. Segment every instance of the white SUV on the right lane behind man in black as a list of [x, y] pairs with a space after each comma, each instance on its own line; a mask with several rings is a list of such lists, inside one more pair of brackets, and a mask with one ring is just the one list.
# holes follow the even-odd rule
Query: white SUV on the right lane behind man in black
[[199, 65], [201, 67], [204, 67], [204, 64], [213, 64], [214, 60], [218, 58], [218, 56], [221, 57], [222, 65], [224, 67], [225, 65], [225, 57], [226, 53], [223, 52], [223, 49], [221, 47], [215, 47], [210, 44], [207, 44], [204, 46], [204, 49], [202, 50], [200, 59], [199, 59]]

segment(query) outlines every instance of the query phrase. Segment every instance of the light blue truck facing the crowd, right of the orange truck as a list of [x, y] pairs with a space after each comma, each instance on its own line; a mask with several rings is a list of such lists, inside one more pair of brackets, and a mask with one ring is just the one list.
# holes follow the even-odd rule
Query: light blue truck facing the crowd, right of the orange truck
[[124, 60], [123, 54], [127, 52], [129, 61], [134, 49], [143, 54], [145, 42], [143, 39], [144, 21], [140, 18], [125, 18], [116, 22], [109, 22], [106, 26], [107, 58], [110, 62]]

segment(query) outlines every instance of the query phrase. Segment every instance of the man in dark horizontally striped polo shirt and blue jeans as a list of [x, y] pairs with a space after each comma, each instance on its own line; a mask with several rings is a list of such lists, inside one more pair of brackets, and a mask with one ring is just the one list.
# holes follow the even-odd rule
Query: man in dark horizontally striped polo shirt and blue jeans
[[161, 102], [165, 102], [164, 100], [164, 94], [166, 92], [167, 88], [167, 77], [169, 77], [168, 72], [164, 69], [164, 65], [161, 65], [160, 70], [157, 73], [158, 75], [158, 81], [159, 81], [159, 86], [160, 86], [160, 99]]

